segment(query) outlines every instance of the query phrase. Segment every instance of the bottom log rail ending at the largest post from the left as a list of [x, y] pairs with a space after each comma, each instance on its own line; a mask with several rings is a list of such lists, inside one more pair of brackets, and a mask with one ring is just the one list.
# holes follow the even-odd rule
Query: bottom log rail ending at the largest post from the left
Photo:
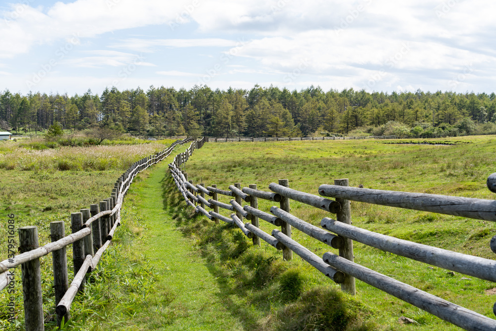
[[307, 261], [310, 265], [316, 268], [318, 271], [322, 272], [324, 275], [334, 280], [335, 283], [340, 284], [344, 280], [344, 273], [337, 270], [336, 268], [326, 265], [319, 256], [311, 252], [308, 248], [300, 245], [290, 237], [286, 236], [279, 230], [272, 230], [272, 236], [274, 236], [278, 241], [295, 252], [303, 260]]

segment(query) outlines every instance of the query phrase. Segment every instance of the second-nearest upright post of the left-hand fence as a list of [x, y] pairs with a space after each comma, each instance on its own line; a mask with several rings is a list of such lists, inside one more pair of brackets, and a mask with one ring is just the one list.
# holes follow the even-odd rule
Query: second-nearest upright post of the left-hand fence
[[[88, 210], [89, 209], [82, 209]], [[84, 215], [83, 215], [84, 217]], [[52, 243], [65, 237], [65, 228], [63, 221], [50, 222], [50, 237]], [[65, 246], [60, 250], [52, 252], [52, 265], [54, 268], [54, 290], [55, 290], [55, 307], [62, 300], [65, 291], [69, 288], [69, 277], [67, 276], [67, 252]], [[69, 312], [64, 316], [64, 323], [70, 319]], [[57, 314], [57, 326], [60, 327], [62, 316]]]

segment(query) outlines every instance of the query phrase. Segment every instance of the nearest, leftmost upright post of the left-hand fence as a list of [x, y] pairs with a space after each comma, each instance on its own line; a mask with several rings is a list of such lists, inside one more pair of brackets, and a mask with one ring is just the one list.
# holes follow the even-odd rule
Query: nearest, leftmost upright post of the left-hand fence
[[[25, 226], [19, 228], [18, 231], [20, 253], [38, 248], [38, 228], [36, 226]], [[21, 270], [26, 331], [44, 331], [40, 259], [23, 263]]]

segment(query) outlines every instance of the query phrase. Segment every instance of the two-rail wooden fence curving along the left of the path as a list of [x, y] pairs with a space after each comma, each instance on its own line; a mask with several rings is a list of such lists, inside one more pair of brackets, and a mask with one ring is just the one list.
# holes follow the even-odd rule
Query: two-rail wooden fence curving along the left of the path
[[[177, 144], [191, 140], [190, 138], [177, 140], [169, 148], [131, 165], [116, 181], [109, 199], [92, 204], [89, 209], [71, 213], [71, 235], [65, 237], [63, 221], [51, 222], [52, 242], [39, 247], [36, 226], [18, 229], [21, 254], [0, 262], [0, 291], [9, 283], [8, 269], [21, 265], [24, 320], [27, 331], [45, 330], [40, 258], [52, 253], [55, 304], [60, 326], [62, 317], [65, 322], [69, 320], [72, 300], [76, 293], [84, 288], [86, 274], [95, 269], [100, 257], [109, 247], [117, 227], [121, 225], [122, 203], [133, 178], [140, 171], [169, 156]], [[74, 278], [68, 285], [66, 246], [70, 244], [72, 244]]]

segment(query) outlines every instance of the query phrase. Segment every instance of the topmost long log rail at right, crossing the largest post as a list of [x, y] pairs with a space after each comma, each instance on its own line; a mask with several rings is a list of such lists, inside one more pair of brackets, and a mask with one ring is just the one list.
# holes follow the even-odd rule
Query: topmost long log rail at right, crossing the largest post
[[496, 221], [496, 200], [372, 190], [336, 185], [320, 185], [318, 193], [324, 197]]

